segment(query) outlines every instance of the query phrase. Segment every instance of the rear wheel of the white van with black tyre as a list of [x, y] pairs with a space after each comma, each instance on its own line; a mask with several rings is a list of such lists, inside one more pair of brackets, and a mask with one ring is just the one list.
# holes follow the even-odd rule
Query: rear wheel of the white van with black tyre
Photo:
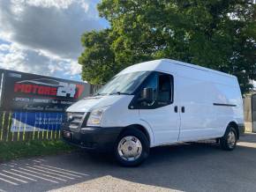
[[225, 135], [220, 138], [220, 144], [223, 150], [234, 150], [237, 146], [237, 130], [230, 126], [226, 130]]

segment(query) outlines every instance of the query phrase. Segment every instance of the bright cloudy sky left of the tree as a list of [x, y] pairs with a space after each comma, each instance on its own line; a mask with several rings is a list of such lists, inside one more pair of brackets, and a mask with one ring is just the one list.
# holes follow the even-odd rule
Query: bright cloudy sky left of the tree
[[80, 37], [108, 26], [98, 0], [1, 0], [0, 68], [81, 80]]

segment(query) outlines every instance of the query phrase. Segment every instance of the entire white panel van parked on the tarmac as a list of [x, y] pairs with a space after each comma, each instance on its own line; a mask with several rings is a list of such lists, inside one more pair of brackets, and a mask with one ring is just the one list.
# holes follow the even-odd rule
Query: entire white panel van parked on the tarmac
[[66, 111], [66, 142], [112, 150], [124, 166], [139, 165], [151, 147], [166, 144], [216, 138], [230, 151], [245, 129], [236, 77], [169, 59], [122, 70]]

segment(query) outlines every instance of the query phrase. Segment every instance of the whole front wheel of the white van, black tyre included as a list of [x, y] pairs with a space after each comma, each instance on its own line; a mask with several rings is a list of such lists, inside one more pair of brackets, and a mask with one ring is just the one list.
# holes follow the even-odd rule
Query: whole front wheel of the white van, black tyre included
[[149, 154], [149, 142], [139, 129], [126, 129], [117, 138], [115, 156], [122, 166], [139, 166]]

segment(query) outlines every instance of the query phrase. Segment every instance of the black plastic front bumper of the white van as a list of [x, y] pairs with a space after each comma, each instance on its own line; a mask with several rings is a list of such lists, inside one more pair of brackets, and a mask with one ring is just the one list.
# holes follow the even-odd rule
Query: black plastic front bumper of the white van
[[[110, 151], [117, 140], [122, 128], [86, 127], [79, 131], [71, 131], [68, 126], [63, 126], [61, 136], [64, 142], [79, 148], [95, 151]], [[70, 132], [71, 137], [65, 137], [65, 132]]]

